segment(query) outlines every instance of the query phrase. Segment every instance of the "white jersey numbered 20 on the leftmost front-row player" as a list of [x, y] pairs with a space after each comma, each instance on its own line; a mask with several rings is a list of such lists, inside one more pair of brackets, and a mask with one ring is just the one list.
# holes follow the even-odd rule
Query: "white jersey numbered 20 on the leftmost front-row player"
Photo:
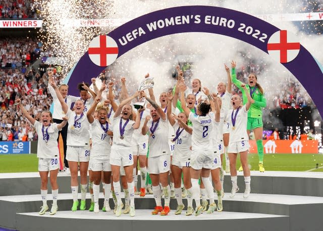
[[[51, 159], [59, 157], [59, 148], [57, 145], [57, 138], [59, 137], [59, 129], [57, 123], [50, 123], [50, 126], [43, 127], [42, 123], [37, 120], [34, 123], [34, 128], [38, 134], [37, 143], [37, 157]], [[42, 129], [43, 128], [43, 129]], [[48, 136], [46, 135], [46, 130]], [[46, 142], [46, 136], [48, 141]]]

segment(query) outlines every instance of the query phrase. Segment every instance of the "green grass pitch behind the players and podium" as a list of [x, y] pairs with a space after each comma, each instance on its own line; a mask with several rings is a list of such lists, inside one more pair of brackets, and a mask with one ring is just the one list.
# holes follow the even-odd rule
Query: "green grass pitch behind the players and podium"
[[[248, 160], [250, 170], [258, 170], [257, 154], [249, 154]], [[263, 160], [266, 171], [323, 171], [322, 154], [264, 154]], [[0, 165], [0, 173], [38, 171], [36, 154], [0, 155]], [[239, 166], [238, 157], [237, 168]]]

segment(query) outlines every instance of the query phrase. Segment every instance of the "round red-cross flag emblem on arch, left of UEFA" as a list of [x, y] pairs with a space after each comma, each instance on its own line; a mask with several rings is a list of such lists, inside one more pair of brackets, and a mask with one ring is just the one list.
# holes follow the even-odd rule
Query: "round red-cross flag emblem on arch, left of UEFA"
[[118, 57], [117, 42], [110, 36], [99, 35], [92, 39], [89, 44], [89, 57], [90, 60], [97, 66], [106, 67]]

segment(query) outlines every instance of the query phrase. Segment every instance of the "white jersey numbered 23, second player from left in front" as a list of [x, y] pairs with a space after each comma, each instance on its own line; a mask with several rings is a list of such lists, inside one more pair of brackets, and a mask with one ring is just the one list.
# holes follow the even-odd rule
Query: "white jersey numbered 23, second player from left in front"
[[67, 145], [87, 146], [90, 141], [90, 123], [86, 114], [77, 115], [70, 109], [67, 111], [69, 127], [67, 130]]

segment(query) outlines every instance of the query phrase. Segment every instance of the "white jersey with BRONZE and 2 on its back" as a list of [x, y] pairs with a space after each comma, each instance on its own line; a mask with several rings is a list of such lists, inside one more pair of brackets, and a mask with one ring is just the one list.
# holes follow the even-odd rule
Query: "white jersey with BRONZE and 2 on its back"
[[192, 150], [209, 150], [212, 148], [212, 132], [214, 113], [199, 116], [190, 112], [189, 119], [193, 124]]

